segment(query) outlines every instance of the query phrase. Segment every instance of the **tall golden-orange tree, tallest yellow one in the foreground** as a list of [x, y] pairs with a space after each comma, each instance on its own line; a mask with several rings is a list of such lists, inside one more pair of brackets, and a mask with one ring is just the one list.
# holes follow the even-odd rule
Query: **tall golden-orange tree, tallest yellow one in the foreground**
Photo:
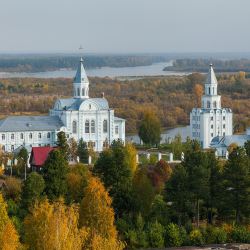
[[123, 249], [123, 243], [117, 239], [111, 203], [112, 199], [101, 181], [91, 177], [80, 207], [80, 226], [89, 230], [89, 243], [86, 248]]

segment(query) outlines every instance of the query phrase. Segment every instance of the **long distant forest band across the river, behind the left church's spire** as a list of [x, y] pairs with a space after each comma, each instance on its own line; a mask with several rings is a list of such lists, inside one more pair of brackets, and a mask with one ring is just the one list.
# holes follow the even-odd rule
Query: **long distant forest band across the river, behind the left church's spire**
[[[80, 55], [0, 55], [0, 72], [43, 72], [76, 68]], [[88, 55], [86, 68], [146, 66], [168, 61], [160, 55]]]

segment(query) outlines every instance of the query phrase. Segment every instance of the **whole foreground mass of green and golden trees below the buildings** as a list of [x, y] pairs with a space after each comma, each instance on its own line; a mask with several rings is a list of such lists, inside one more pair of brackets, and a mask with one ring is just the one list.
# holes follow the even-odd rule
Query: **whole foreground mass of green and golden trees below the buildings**
[[[135, 147], [118, 140], [93, 165], [69, 166], [71, 146], [63, 132], [57, 144], [41, 172], [26, 180], [5, 177], [0, 248], [250, 242], [250, 141], [234, 147], [225, 161], [188, 140], [179, 145], [185, 158], [178, 165], [154, 158], [137, 164]], [[86, 161], [89, 151], [80, 144], [77, 155]], [[178, 142], [171, 146], [178, 151]]]

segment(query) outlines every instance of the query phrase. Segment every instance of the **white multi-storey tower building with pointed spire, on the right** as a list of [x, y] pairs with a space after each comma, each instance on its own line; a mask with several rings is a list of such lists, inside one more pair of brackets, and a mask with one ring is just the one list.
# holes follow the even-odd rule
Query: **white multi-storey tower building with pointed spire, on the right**
[[205, 93], [201, 98], [202, 106], [193, 108], [190, 113], [191, 137], [199, 141], [203, 149], [210, 147], [214, 137], [233, 134], [232, 110], [221, 107], [217, 87], [218, 82], [211, 64], [205, 82]]

